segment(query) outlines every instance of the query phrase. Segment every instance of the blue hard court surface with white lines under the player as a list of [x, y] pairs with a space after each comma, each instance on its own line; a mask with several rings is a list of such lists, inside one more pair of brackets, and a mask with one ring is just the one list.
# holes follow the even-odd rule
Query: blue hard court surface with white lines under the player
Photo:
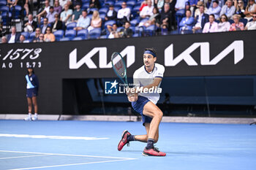
[[141, 142], [119, 152], [124, 129], [145, 133], [140, 122], [0, 120], [0, 169], [256, 169], [256, 125], [161, 123], [163, 158], [141, 155]]

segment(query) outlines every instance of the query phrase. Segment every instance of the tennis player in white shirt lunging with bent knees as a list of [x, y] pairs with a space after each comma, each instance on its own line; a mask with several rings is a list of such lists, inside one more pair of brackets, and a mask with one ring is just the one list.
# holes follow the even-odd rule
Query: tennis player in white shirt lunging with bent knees
[[[144, 50], [143, 61], [144, 65], [133, 74], [135, 88], [139, 87], [142, 91], [146, 88], [146, 90], [155, 87], [159, 88], [165, 67], [155, 63], [157, 61], [157, 53], [154, 48], [146, 48]], [[147, 134], [132, 135], [125, 130], [121, 136], [121, 141], [118, 143], [118, 150], [122, 150], [125, 144], [129, 144], [132, 141], [147, 142], [143, 155], [165, 156], [165, 152], [160, 152], [154, 147], [154, 143], [157, 143], [159, 138], [159, 123], [162, 120], [162, 111], [156, 105], [160, 97], [159, 93], [127, 93], [127, 97], [132, 102], [133, 109], [142, 116]]]

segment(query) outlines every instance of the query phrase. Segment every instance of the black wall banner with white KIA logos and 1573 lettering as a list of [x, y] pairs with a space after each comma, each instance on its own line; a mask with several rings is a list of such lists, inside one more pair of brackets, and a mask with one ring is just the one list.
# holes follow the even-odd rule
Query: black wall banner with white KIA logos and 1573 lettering
[[[128, 77], [143, 65], [143, 50], [154, 47], [165, 77], [256, 74], [256, 31], [153, 36], [131, 39], [96, 39], [0, 45], [0, 112], [24, 107], [26, 67], [34, 66], [40, 98], [53, 114], [61, 112], [61, 81], [116, 77], [110, 56], [119, 52]], [[26, 100], [26, 98], [25, 98]], [[20, 101], [22, 101], [20, 103]], [[16, 107], [14, 107], [16, 106]], [[26, 107], [25, 107], [26, 108]]]

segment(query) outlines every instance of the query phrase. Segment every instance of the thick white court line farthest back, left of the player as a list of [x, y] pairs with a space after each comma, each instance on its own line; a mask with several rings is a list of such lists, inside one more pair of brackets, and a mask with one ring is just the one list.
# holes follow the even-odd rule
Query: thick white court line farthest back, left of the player
[[84, 136], [47, 136], [47, 135], [30, 135], [30, 134], [0, 134], [0, 137], [18, 137], [18, 138], [35, 138], [35, 139], [75, 139], [75, 140], [109, 139], [109, 138], [84, 137]]

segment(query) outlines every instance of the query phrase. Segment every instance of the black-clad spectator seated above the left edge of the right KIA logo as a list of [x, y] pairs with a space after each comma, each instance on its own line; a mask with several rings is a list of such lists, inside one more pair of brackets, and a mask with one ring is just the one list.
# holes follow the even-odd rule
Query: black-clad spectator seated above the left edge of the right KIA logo
[[165, 3], [164, 10], [162, 10], [160, 13], [161, 28], [165, 26], [168, 30], [170, 30], [171, 15], [170, 4]]

